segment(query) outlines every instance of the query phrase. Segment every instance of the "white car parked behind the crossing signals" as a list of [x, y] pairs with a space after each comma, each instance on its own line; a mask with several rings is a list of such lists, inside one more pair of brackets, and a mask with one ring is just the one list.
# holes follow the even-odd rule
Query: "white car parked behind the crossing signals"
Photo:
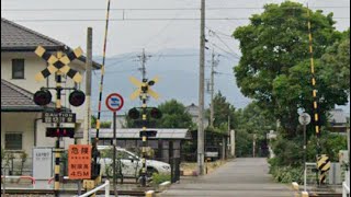
[[[112, 146], [98, 146], [100, 151], [100, 164], [101, 164], [101, 174], [102, 176], [112, 176], [113, 175], [113, 147]], [[116, 147], [116, 165], [121, 166], [123, 177], [139, 177], [140, 171], [143, 167], [143, 162], [139, 157], [134, 154], [126, 149]], [[121, 163], [118, 163], [121, 161]], [[147, 166], [147, 176], [151, 176], [154, 173], [160, 174], [170, 174], [171, 166], [168, 163], [156, 161], [156, 160], [146, 160]], [[118, 174], [118, 173], [116, 173]]]

